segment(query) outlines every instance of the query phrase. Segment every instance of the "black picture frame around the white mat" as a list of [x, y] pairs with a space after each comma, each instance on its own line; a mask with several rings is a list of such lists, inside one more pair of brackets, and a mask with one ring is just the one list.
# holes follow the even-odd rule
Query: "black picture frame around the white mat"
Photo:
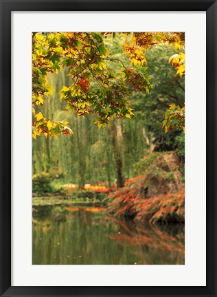
[[[210, 0], [0, 0], [1, 8], [1, 296], [217, 296], [216, 142], [217, 3]], [[11, 286], [11, 12], [12, 11], [206, 11], [207, 50], [207, 285], [205, 287]], [[199, 259], [198, 259], [199, 261]], [[192, 276], [193, 277], [193, 276]]]

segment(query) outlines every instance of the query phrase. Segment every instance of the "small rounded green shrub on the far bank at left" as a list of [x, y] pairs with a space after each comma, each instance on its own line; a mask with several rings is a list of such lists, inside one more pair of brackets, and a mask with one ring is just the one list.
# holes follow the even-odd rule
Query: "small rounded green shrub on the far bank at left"
[[48, 192], [54, 192], [51, 182], [52, 176], [49, 173], [42, 172], [41, 174], [35, 174], [32, 177], [32, 191], [38, 196], [42, 196]]

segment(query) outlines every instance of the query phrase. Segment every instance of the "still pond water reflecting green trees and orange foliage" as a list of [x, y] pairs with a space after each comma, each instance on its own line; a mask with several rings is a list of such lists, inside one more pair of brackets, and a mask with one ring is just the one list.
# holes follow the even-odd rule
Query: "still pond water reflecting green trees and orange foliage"
[[184, 226], [119, 221], [104, 208], [34, 208], [32, 263], [184, 264]]

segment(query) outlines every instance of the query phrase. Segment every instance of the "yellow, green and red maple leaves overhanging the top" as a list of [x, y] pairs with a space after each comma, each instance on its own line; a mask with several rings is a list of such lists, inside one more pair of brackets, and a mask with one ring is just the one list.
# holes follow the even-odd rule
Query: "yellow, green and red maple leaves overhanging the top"
[[[121, 59], [113, 58], [106, 45], [106, 39], [124, 39], [123, 51], [131, 67]], [[47, 118], [41, 106], [46, 96], [52, 94], [47, 75], [58, 74], [63, 68], [69, 69], [71, 86], [62, 86], [60, 99], [66, 108], [78, 115], [98, 115], [95, 124], [99, 128], [109, 123], [110, 118], [131, 118], [133, 109], [126, 98], [129, 85], [137, 91], [149, 93], [152, 84], [148, 76], [145, 52], [152, 45], [167, 43], [184, 50], [183, 33], [116, 33], [109, 32], [54, 32], [34, 33], [32, 38], [32, 104], [33, 137], [37, 135], [57, 136], [72, 134], [64, 120], [54, 122]], [[183, 52], [170, 58], [183, 75]], [[122, 69], [114, 72], [111, 63], [119, 63]]]

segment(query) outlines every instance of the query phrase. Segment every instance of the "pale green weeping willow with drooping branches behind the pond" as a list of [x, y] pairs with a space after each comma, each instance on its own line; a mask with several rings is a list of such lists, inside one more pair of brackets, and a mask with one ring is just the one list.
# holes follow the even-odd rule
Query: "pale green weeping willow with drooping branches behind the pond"
[[73, 135], [38, 137], [33, 142], [34, 173], [46, 171], [62, 176], [65, 182], [85, 184], [106, 182], [123, 186], [133, 176], [133, 164], [147, 150], [141, 122], [111, 120], [108, 126], [98, 129], [94, 115], [78, 116], [64, 110], [58, 96], [61, 84], [70, 84], [67, 69], [63, 74], [52, 74], [49, 81], [55, 92], [45, 101], [48, 116], [56, 121], [64, 117], [73, 126]]

